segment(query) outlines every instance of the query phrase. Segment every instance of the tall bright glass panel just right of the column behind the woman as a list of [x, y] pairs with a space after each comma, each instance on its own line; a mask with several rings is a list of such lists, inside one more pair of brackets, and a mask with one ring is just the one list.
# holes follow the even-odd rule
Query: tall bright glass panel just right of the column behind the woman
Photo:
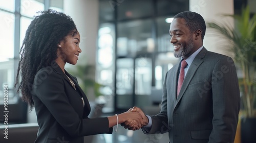
[[101, 93], [106, 105], [103, 112], [113, 112], [115, 77], [115, 29], [112, 23], [102, 23], [98, 32], [98, 50], [96, 57], [96, 81], [104, 87]]

